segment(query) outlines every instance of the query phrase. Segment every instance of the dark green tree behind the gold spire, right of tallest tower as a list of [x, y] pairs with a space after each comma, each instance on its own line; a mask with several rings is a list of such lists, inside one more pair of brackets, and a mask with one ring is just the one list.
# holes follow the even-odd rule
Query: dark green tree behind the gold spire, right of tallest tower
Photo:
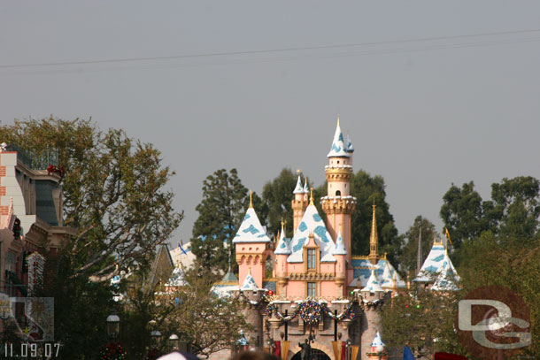
[[371, 176], [359, 170], [351, 179], [351, 195], [356, 197], [356, 211], [351, 217], [352, 253], [354, 255], [369, 254], [369, 235], [373, 208], [375, 203], [377, 232], [379, 235], [379, 251], [387, 252], [390, 261], [395, 262], [399, 256], [403, 239], [397, 234], [394, 217], [390, 214], [390, 205], [386, 202], [386, 185], [380, 175]]

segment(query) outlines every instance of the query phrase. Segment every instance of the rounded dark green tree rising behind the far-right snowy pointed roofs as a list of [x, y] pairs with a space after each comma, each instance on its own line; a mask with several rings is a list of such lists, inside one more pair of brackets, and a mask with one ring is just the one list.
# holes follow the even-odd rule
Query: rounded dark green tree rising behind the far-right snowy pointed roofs
[[482, 196], [474, 190], [473, 181], [464, 183], [461, 188], [452, 184], [444, 194], [443, 202], [440, 215], [456, 249], [459, 249], [461, 242], [478, 238], [482, 232], [493, 230], [493, 223], [486, 216], [493, 205], [482, 201]]

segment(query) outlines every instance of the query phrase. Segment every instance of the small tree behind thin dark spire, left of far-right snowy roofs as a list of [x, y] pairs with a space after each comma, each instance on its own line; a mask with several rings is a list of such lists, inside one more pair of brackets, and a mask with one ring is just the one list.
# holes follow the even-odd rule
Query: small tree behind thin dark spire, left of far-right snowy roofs
[[427, 218], [422, 218], [420, 215], [414, 218], [413, 225], [405, 233], [405, 245], [399, 257], [399, 264], [406, 273], [416, 274], [417, 270], [417, 254], [418, 240], [420, 238], [421, 229], [421, 249], [422, 257], [420, 266], [428, 257], [429, 250], [433, 243], [433, 237], [436, 234], [435, 225]]

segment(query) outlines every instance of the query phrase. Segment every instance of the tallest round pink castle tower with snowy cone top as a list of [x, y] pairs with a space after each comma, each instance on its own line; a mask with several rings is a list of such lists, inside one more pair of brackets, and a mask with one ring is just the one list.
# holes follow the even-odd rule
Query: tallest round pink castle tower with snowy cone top
[[328, 195], [322, 198], [322, 210], [327, 215], [328, 232], [336, 239], [339, 229], [343, 229], [343, 243], [347, 249], [346, 260], [351, 264], [351, 214], [356, 208], [356, 199], [351, 194], [352, 164], [351, 152], [343, 142], [343, 134], [337, 118], [336, 134], [332, 148], [328, 152], [325, 166]]

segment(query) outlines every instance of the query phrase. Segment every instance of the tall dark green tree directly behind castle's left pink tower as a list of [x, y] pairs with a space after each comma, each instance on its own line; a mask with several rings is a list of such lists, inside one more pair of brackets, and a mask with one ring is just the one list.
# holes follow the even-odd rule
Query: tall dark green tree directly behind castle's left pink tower
[[[266, 204], [255, 193], [252, 199], [253, 207], [264, 226]], [[236, 169], [230, 172], [220, 169], [203, 181], [203, 200], [196, 208], [199, 216], [193, 225], [191, 249], [206, 269], [225, 272], [229, 259], [235, 265], [232, 241], [249, 201], [248, 189], [238, 178]]]

